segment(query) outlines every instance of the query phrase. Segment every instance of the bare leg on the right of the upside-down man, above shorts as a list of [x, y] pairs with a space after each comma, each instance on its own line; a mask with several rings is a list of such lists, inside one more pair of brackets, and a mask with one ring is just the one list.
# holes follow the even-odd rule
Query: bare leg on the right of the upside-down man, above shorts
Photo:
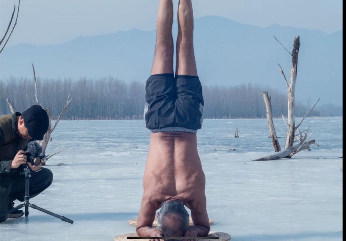
[[175, 75], [197, 76], [193, 52], [193, 11], [191, 0], [179, 0]]

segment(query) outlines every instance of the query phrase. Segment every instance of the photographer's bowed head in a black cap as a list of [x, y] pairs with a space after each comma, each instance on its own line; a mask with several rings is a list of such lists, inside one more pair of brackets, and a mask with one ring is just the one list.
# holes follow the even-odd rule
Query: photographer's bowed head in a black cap
[[22, 113], [18, 120], [18, 135], [24, 139], [43, 140], [49, 126], [47, 112], [39, 105], [33, 105]]

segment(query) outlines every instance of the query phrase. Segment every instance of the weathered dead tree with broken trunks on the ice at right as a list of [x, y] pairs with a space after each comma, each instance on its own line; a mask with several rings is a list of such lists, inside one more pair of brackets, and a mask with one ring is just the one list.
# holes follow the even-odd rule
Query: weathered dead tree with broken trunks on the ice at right
[[[277, 38], [275, 36], [274, 36], [274, 38], [276, 39], [277, 42], [279, 42], [279, 40], [277, 40]], [[263, 158], [256, 159], [254, 161], [267, 161], [267, 160], [276, 160], [276, 159], [280, 159], [280, 158], [284, 158], [284, 157], [292, 157], [294, 154], [300, 152], [301, 150], [310, 151], [311, 150], [310, 145], [312, 145], [312, 144], [316, 144], [318, 146], [315, 139], [307, 141], [307, 139], [312, 134], [311, 133], [309, 136], [307, 136], [308, 131], [310, 129], [306, 129], [304, 132], [304, 135], [302, 135], [302, 133], [299, 131], [298, 128], [300, 127], [303, 120], [310, 114], [310, 112], [316, 106], [316, 104], [318, 103], [318, 101], [320, 99], [317, 100], [315, 105], [312, 106], [310, 111], [306, 113], [306, 115], [303, 117], [303, 119], [300, 121], [300, 123], [297, 126], [295, 126], [295, 122], [294, 122], [294, 93], [295, 93], [295, 83], [297, 81], [298, 54], [299, 54], [299, 48], [300, 48], [300, 41], [299, 40], [300, 40], [299, 36], [294, 38], [292, 53], [290, 53], [279, 42], [281, 44], [281, 46], [287, 52], [289, 52], [289, 54], [292, 56], [291, 75], [290, 75], [290, 82], [289, 83], [287, 82], [286, 76], [285, 76], [284, 71], [281, 68], [280, 64], [277, 64], [280, 67], [281, 74], [285, 80], [285, 84], [287, 87], [287, 101], [288, 101], [288, 103], [287, 103], [287, 113], [288, 113], [287, 114], [287, 121], [282, 114], [282, 119], [284, 120], [286, 127], [287, 127], [287, 134], [285, 134], [286, 135], [285, 148], [284, 148], [284, 150], [279, 149], [280, 145], [279, 145], [279, 142], [277, 141], [276, 132], [275, 132], [275, 128], [273, 125], [273, 118], [272, 118], [272, 114], [271, 114], [270, 97], [268, 97], [268, 93], [266, 91], [264, 91], [263, 92], [263, 98], [264, 98], [264, 102], [265, 102], [265, 106], [266, 106], [266, 110], [267, 110], [268, 126], [269, 126], [269, 130], [271, 133], [272, 141], [273, 141], [273, 147], [274, 147], [276, 153], [274, 155], [269, 155], [269, 156], [266, 156]], [[281, 128], [279, 128], [279, 129], [281, 131], [283, 131]], [[299, 134], [295, 134], [297, 130], [298, 130]], [[297, 140], [295, 140], [295, 138], [297, 138]], [[298, 141], [298, 144], [294, 145], [294, 143], [297, 141]], [[279, 146], [279, 148], [277, 146]]]

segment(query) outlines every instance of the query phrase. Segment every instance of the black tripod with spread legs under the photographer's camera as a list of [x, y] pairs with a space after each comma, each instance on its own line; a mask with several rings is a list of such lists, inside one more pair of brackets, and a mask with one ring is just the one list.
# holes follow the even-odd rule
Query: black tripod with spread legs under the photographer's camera
[[64, 217], [64, 216], [60, 216], [60, 215], [57, 215], [55, 213], [52, 213], [46, 209], [43, 209], [43, 208], [40, 208], [38, 206], [36, 206], [35, 204], [31, 204], [29, 203], [29, 178], [31, 177], [31, 174], [30, 174], [30, 168], [29, 166], [27, 165], [26, 168], [21, 171], [21, 174], [24, 174], [25, 175], [25, 196], [24, 196], [24, 203], [23, 204], [19, 204], [17, 207], [14, 207], [10, 210], [7, 210], [7, 212], [4, 212], [1, 214], [1, 216], [3, 215], [6, 215], [6, 214], [9, 214], [9, 213], [12, 213], [13, 211], [16, 211], [18, 209], [21, 209], [22, 207], [25, 207], [25, 216], [27, 217], [29, 215], [29, 207], [32, 207], [34, 209], [37, 209], [41, 212], [44, 212], [46, 214], [49, 214], [49, 215], [52, 215], [54, 217], [57, 217], [59, 218], [60, 220], [64, 221], [64, 222], [67, 222], [67, 223], [73, 223], [73, 221], [67, 217]]

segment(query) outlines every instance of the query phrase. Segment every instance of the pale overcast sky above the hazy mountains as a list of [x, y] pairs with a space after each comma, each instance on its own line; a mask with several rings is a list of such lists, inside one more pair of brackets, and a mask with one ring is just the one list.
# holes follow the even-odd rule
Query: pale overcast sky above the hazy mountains
[[[1, 37], [15, 3], [18, 0], [0, 1]], [[173, 4], [176, 8], [178, 1]], [[22, 0], [6, 46], [58, 44], [133, 28], [153, 30], [157, 5], [158, 0]], [[276, 23], [326, 33], [343, 28], [342, 0], [193, 0], [193, 7], [195, 18], [216, 15], [260, 27]]]

